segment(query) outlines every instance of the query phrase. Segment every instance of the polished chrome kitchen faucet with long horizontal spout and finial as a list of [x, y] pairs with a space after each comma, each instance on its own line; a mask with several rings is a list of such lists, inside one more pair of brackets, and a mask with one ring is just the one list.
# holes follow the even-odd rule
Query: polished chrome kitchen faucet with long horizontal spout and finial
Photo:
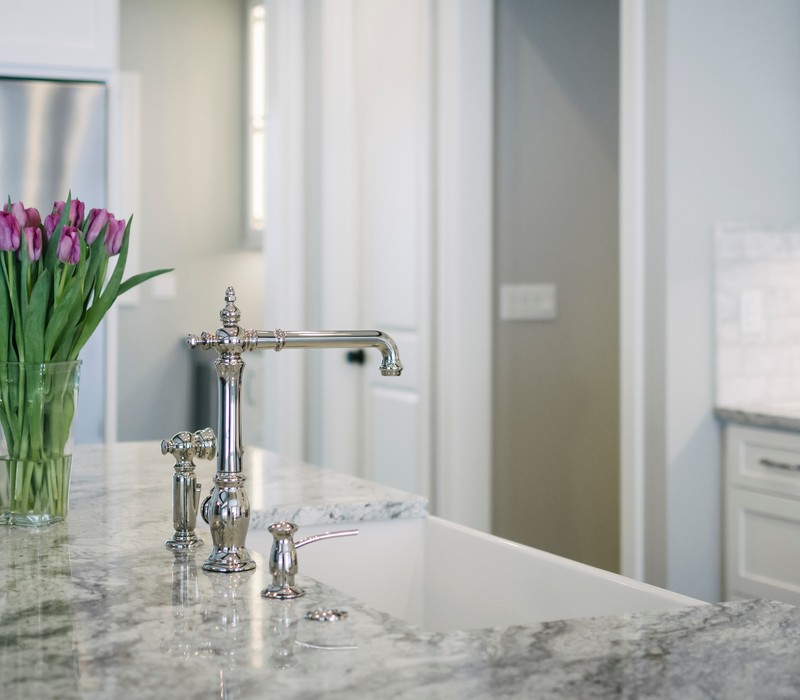
[[[381, 331], [256, 331], [239, 327], [240, 313], [233, 287], [225, 291], [225, 306], [219, 312], [222, 327], [215, 333], [190, 335], [190, 348], [214, 349], [217, 370], [217, 473], [214, 487], [200, 513], [210, 528], [212, 550], [203, 564], [206, 571], [232, 573], [255, 568], [245, 546], [250, 522], [250, 501], [242, 473], [241, 393], [242, 353], [248, 350], [292, 348], [377, 348], [380, 371], [399, 376], [403, 371], [397, 345]], [[199, 488], [199, 486], [197, 487]]]

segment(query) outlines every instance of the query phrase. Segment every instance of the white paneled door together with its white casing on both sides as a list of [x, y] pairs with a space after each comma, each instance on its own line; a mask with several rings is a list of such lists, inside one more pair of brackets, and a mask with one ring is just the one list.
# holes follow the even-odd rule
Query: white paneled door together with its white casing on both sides
[[378, 328], [405, 370], [265, 363], [265, 445], [488, 530], [492, 0], [266, 4], [267, 327]]

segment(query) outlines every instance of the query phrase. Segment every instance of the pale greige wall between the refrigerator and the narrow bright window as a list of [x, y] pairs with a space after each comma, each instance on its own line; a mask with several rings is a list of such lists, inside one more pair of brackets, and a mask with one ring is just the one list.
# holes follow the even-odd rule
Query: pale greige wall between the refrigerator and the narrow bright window
[[[214, 330], [233, 284], [242, 323], [261, 323], [261, 256], [243, 252], [244, 5], [122, 0], [120, 66], [141, 76], [142, 269], [175, 267], [178, 295], [120, 310], [119, 438], [190, 423], [187, 333]], [[208, 362], [211, 354], [205, 354]]]

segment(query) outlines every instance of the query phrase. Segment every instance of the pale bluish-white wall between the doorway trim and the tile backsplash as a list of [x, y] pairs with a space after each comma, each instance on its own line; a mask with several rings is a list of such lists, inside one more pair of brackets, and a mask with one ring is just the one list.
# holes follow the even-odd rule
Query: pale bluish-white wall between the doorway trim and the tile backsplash
[[800, 3], [644, 7], [646, 576], [714, 600], [712, 233], [720, 221], [800, 220]]

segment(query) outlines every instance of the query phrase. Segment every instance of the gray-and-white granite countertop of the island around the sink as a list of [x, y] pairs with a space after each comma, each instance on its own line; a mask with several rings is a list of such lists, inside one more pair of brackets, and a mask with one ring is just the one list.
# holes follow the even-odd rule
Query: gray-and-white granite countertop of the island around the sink
[[[265, 520], [424, 512], [423, 501], [398, 491], [269, 455], [258, 459], [265, 460], [269, 499], [259, 501], [254, 473], [248, 491]], [[246, 461], [250, 472], [258, 459]], [[205, 552], [164, 548], [172, 532], [170, 478], [156, 444], [82, 448], [67, 522], [41, 531], [0, 526], [3, 697], [685, 699], [800, 692], [800, 610], [781, 603], [441, 634], [302, 575], [304, 598], [266, 601], [260, 591], [267, 566], [258, 552], [255, 571], [226, 575], [202, 570]], [[302, 480], [311, 482], [306, 494]], [[348, 615], [331, 623], [305, 619], [316, 608]]]

